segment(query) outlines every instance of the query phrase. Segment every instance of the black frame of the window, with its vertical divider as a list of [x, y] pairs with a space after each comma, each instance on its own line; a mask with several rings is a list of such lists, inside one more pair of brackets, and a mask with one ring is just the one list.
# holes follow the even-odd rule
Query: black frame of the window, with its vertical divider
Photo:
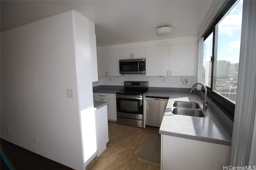
[[211, 84], [210, 87], [206, 86], [207, 88], [207, 95], [212, 98], [217, 104], [219, 104], [221, 107], [223, 107], [223, 109], [230, 114], [233, 118], [234, 118], [234, 111], [235, 111], [235, 106], [236, 104], [234, 104], [233, 102], [227, 100], [226, 98], [224, 98], [223, 96], [219, 95], [218, 93], [214, 92], [212, 87], [213, 87], [213, 74], [214, 74], [214, 48], [215, 48], [215, 26], [219, 23], [220, 20], [222, 20], [222, 18], [224, 18], [227, 14], [227, 12], [229, 12], [229, 10], [232, 8], [232, 6], [237, 2], [237, 0], [228, 0], [226, 1], [222, 8], [219, 10], [219, 12], [216, 14], [216, 16], [214, 17], [214, 20], [212, 21], [212, 23], [210, 23], [210, 25], [208, 26], [208, 28], [206, 29], [206, 31], [204, 32], [204, 34], [202, 35], [202, 37], [204, 37], [204, 41], [210, 36], [211, 33], [213, 33], [213, 40], [212, 40], [212, 68], [211, 68]]

